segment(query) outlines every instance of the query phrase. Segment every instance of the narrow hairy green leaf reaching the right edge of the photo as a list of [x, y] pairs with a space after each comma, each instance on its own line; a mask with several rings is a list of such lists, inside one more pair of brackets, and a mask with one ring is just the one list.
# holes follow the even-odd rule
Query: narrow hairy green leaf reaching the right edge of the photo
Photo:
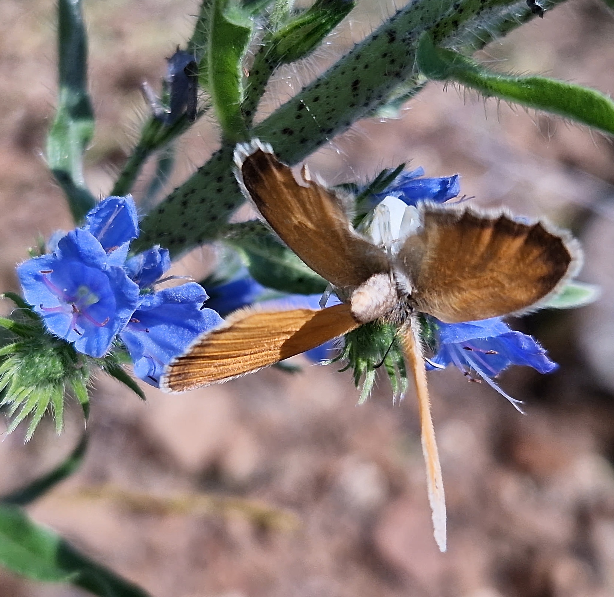
[[546, 77], [499, 74], [456, 51], [437, 47], [429, 32], [420, 37], [416, 60], [426, 77], [457, 81], [483, 96], [552, 112], [614, 134], [614, 102], [596, 89]]

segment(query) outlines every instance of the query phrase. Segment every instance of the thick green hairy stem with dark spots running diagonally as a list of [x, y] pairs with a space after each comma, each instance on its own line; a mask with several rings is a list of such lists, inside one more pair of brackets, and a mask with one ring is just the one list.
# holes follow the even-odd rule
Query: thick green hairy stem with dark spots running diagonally
[[[559, 0], [559, 2], [562, 0]], [[545, 2], [548, 9], [558, 2]], [[423, 31], [439, 45], [464, 45], [476, 29], [511, 29], [529, 18], [523, 1], [415, 0], [357, 44], [321, 77], [251, 130], [280, 159], [297, 164], [352, 123], [385, 105], [398, 88], [411, 91], [418, 76], [416, 47]], [[475, 38], [471, 38], [475, 43]], [[177, 255], [219, 237], [220, 222], [243, 203], [232, 172], [234, 147], [222, 146], [141, 224], [135, 250], [160, 244]]]

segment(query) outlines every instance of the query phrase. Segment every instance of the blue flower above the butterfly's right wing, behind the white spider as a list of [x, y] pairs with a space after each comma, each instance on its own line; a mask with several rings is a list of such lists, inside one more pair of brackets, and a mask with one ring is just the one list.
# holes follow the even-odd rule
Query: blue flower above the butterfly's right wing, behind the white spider
[[438, 178], [421, 178], [424, 175], [422, 167], [416, 170], [401, 172], [381, 193], [373, 195], [376, 202], [386, 197], [397, 197], [407, 205], [417, 205], [421, 201], [443, 203], [456, 197], [461, 192], [459, 175]]

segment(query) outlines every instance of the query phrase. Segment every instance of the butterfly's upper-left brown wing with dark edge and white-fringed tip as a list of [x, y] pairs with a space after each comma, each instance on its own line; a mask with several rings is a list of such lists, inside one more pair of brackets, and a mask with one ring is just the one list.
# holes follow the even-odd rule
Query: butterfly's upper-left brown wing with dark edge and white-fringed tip
[[298, 184], [270, 146], [239, 145], [235, 162], [239, 183], [263, 218], [314, 272], [348, 287], [389, 271], [386, 254], [354, 232], [335, 195], [312, 181]]

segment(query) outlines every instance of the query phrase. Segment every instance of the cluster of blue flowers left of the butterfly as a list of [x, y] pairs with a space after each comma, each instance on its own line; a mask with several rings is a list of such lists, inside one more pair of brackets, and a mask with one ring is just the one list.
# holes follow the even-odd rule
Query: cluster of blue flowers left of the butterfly
[[88, 213], [85, 226], [61, 237], [52, 253], [21, 264], [17, 274], [49, 332], [98, 359], [119, 338], [136, 375], [158, 386], [165, 365], [222, 318], [203, 308], [208, 296], [199, 284], [156, 291], [169, 254], [155, 246], [128, 257], [138, 235], [132, 197], [109, 197]]

